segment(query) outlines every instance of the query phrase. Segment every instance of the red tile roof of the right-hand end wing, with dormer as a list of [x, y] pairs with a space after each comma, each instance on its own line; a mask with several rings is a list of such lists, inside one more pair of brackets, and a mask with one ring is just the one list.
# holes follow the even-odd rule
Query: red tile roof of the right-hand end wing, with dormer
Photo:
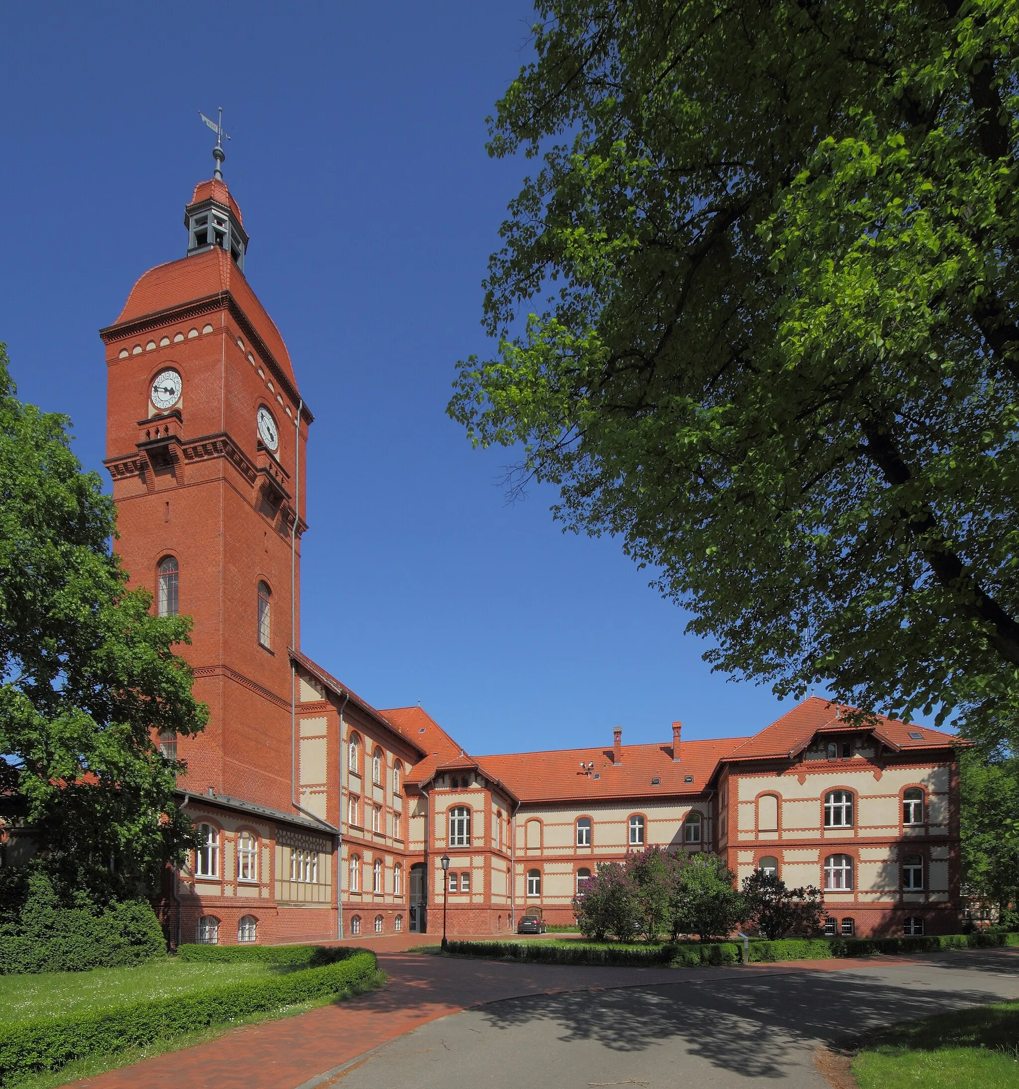
[[[789, 758], [805, 748], [818, 732], [846, 733], [859, 729], [873, 730], [874, 736], [879, 741], [884, 742], [896, 751], [910, 748], [952, 748], [968, 745], [955, 734], [946, 734], [941, 730], [931, 730], [929, 726], [900, 722], [898, 719], [886, 719], [884, 715], [876, 715], [872, 726], [857, 725], [852, 721], [847, 722], [846, 715], [855, 711], [856, 708], [847, 707], [845, 703], [831, 703], [820, 696], [811, 696], [802, 703], [786, 711], [781, 719], [776, 719], [770, 726], [765, 726], [742, 745], [734, 747], [725, 759], [735, 761], [762, 760], [770, 757]], [[921, 736], [910, 737], [910, 733]]]

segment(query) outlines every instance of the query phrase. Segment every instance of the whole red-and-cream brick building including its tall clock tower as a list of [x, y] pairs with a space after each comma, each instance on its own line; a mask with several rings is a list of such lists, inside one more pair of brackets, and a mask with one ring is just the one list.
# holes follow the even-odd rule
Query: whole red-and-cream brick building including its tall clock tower
[[[196, 244], [199, 213], [246, 245], [226, 186], [201, 183], [188, 256], [143, 276], [101, 332], [118, 549], [155, 608], [193, 617], [183, 653], [210, 711], [200, 736], [176, 739], [206, 840], [160, 905], [174, 940], [437, 933], [443, 908], [450, 933], [505, 932], [526, 909], [566, 923], [586, 871], [653, 843], [719, 852], [740, 876], [773, 858], [794, 885], [823, 883], [826, 859], [847, 856], [852, 888], [825, 893], [838, 926], [957, 926], [948, 735], [857, 730], [808, 700], [750, 738], [682, 742], [675, 723], [671, 744], [624, 746], [617, 732], [604, 748], [476, 759], [420, 708], [378, 711], [304, 657], [312, 416], [243, 254]], [[928, 816], [905, 827], [910, 784]], [[825, 825], [835, 790], [851, 794], [851, 827]], [[921, 888], [904, 890], [916, 854]]]

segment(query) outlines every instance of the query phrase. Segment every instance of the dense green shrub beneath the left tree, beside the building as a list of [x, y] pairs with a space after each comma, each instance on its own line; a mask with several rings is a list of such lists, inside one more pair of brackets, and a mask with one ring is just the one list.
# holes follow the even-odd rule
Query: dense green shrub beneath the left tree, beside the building
[[149, 904], [127, 901], [100, 909], [78, 895], [66, 906], [44, 873], [29, 878], [24, 903], [0, 923], [0, 975], [120, 968], [165, 954]]

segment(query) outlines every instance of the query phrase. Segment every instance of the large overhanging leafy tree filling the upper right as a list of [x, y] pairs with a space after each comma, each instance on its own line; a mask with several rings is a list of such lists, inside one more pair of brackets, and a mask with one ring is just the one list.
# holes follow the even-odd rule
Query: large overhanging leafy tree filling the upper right
[[538, 10], [489, 151], [540, 166], [451, 414], [716, 668], [1016, 738], [1015, 5]]

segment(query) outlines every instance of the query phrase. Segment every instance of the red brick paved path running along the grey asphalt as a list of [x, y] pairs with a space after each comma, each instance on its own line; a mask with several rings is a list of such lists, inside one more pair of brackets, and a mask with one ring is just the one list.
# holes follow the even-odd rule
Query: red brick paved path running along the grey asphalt
[[[419, 943], [418, 935], [413, 938]], [[386, 987], [283, 1020], [250, 1025], [217, 1040], [146, 1059], [74, 1082], [75, 1089], [312, 1089], [341, 1068], [419, 1025], [469, 1006], [528, 994], [639, 987], [750, 972], [837, 971], [865, 960], [813, 960], [742, 968], [585, 968], [503, 964], [407, 953], [412, 942], [382, 939], [377, 947]], [[882, 958], [891, 965], [905, 963]]]

